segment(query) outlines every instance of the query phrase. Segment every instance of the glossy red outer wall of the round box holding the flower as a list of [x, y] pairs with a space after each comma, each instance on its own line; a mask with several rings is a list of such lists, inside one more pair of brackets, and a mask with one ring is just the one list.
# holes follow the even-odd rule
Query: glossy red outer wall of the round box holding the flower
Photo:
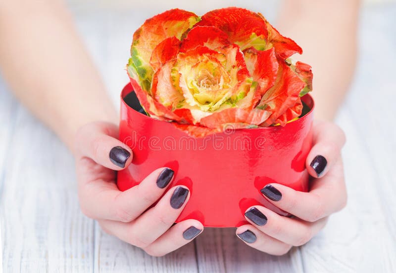
[[128, 84], [121, 94], [120, 139], [134, 153], [132, 164], [118, 172], [121, 191], [166, 166], [175, 171], [170, 187], [185, 185], [191, 191], [177, 222], [197, 219], [205, 227], [238, 227], [247, 223], [244, 212], [252, 205], [286, 214], [261, 195], [265, 185], [308, 190], [305, 158], [312, 142], [311, 96], [302, 98], [311, 111], [285, 127], [229, 128], [198, 139], [133, 110], [123, 100], [132, 91]]

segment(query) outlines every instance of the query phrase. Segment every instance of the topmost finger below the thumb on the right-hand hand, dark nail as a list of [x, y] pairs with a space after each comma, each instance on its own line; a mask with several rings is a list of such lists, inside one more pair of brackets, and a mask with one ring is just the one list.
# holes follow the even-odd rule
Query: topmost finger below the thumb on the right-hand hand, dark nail
[[309, 193], [275, 183], [266, 185], [261, 193], [280, 209], [315, 222], [341, 210], [347, 203], [342, 159], [339, 157], [326, 176], [312, 180]]

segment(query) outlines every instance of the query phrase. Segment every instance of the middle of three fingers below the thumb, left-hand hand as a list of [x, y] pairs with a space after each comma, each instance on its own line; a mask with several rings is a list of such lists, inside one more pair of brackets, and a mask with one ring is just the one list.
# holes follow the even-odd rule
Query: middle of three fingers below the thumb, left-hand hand
[[132, 245], [146, 248], [173, 225], [189, 196], [190, 191], [186, 187], [173, 187], [135, 221], [122, 223], [106, 220], [102, 223], [108, 233]]

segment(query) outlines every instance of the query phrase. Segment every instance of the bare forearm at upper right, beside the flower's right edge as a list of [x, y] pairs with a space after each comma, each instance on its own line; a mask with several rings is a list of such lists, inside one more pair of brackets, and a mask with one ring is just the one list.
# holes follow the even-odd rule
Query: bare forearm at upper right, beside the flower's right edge
[[303, 48], [312, 66], [317, 118], [333, 119], [356, 61], [359, 0], [284, 0], [277, 27]]

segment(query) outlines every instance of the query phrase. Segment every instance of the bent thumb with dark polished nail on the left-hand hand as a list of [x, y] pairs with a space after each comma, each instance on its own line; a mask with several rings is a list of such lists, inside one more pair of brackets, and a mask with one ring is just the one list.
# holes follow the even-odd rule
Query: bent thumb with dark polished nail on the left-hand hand
[[76, 134], [78, 156], [89, 157], [112, 170], [122, 170], [132, 162], [132, 151], [117, 139], [118, 128], [114, 124], [93, 122], [79, 129]]

